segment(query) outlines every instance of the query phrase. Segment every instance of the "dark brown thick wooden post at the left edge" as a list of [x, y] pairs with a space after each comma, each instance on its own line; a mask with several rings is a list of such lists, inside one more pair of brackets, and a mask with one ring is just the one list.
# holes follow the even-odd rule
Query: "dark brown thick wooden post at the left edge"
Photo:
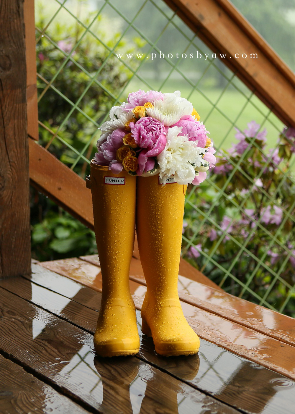
[[7, 278], [31, 273], [23, 1], [1, 0], [0, 22], [0, 278]]

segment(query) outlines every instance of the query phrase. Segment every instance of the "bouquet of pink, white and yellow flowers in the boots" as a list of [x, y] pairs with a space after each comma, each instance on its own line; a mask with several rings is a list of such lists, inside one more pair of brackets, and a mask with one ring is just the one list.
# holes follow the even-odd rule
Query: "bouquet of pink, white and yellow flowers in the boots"
[[101, 126], [94, 162], [118, 174], [149, 176], [160, 182], [174, 176], [179, 184], [198, 185], [216, 161], [208, 131], [193, 105], [180, 91], [131, 92], [128, 102], [114, 106]]

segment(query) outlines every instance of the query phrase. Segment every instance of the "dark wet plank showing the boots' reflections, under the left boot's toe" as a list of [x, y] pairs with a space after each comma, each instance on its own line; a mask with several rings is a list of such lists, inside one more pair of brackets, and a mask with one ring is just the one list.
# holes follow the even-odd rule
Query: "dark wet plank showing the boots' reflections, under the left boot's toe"
[[92, 412], [150, 413], [160, 406], [167, 413], [202, 412], [206, 407], [237, 413], [136, 357], [96, 357], [92, 335], [0, 290], [0, 349]]

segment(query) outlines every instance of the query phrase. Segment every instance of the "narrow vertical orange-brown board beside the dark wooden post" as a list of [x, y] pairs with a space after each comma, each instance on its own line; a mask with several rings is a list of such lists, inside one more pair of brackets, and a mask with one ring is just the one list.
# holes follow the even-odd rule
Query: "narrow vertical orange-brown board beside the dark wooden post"
[[24, 0], [28, 135], [38, 140], [38, 94], [34, 0]]

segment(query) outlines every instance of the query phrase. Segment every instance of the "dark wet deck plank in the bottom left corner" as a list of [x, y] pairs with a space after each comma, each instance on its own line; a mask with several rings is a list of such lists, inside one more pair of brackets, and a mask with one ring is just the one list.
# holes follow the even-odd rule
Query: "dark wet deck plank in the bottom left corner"
[[88, 413], [83, 407], [2, 355], [0, 372], [0, 411], [3, 414]]

